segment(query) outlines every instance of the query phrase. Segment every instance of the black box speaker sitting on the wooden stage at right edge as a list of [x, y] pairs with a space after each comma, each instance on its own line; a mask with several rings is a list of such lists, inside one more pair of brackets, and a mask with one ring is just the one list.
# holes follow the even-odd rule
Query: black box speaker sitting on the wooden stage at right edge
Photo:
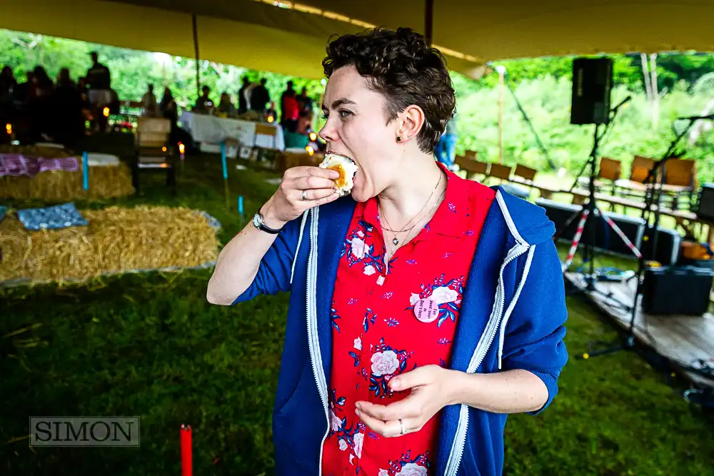
[[642, 310], [653, 315], [703, 315], [709, 308], [714, 271], [690, 266], [648, 268]]

